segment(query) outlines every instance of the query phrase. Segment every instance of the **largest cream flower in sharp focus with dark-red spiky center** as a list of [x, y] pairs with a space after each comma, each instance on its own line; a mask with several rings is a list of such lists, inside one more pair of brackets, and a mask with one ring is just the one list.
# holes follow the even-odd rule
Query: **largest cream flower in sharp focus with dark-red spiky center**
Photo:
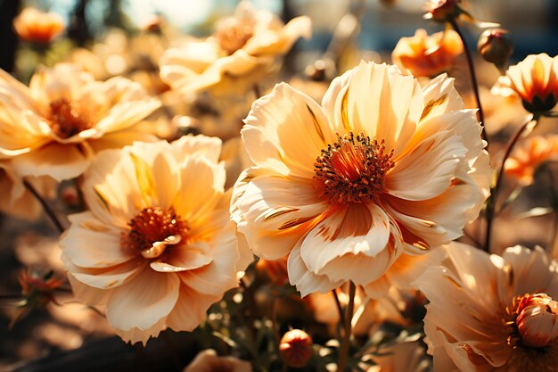
[[235, 185], [234, 219], [258, 256], [289, 255], [303, 295], [405, 266], [461, 236], [485, 198], [480, 125], [446, 76], [422, 88], [361, 62], [333, 80], [322, 106], [280, 84], [245, 123], [256, 166]]

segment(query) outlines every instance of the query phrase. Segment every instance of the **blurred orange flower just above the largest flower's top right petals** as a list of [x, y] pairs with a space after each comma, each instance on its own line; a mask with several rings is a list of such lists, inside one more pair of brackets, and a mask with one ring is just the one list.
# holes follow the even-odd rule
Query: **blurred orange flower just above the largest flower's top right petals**
[[431, 36], [424, 29], [417, 29], [414, 37], [399, 39], [391, 59], [402, 71], [408, 70], [414, 76], [433, 77], [450, 69], [463, 51], [463, 43], [453, 29]]

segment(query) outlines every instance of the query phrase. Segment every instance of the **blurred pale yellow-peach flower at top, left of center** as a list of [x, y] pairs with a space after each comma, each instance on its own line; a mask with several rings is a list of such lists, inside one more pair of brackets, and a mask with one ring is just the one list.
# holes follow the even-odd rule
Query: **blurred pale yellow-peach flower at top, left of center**
[[299, 37], [310, 35], [308, 17], [283, 25], [272, 13], [242, 1], [234, 17], [220, 21], [211, 37], [168, 49], [160, 60], [160, 76], [185, 94], [205, 89], [243, 93], [265, 77], [276, 57], [287, 53]]

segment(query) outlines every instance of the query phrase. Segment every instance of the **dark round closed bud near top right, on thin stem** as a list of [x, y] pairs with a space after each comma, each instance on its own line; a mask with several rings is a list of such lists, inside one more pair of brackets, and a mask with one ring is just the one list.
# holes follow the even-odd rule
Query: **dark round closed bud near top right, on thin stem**
[[504, 71], [507, 60], [513, 54], [512, 36], [505, 29], [487, 29], [480, 35], [477, 47], [485, 61]]

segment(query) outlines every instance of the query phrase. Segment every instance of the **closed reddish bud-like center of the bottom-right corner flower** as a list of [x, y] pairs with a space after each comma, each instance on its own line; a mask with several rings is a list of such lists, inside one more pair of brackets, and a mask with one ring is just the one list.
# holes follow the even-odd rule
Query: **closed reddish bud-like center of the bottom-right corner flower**
[[545, 293], [524, 295], [517, 314], [515, 324], [525, 346], [546, 347], [558, 340], [558, 302]]

